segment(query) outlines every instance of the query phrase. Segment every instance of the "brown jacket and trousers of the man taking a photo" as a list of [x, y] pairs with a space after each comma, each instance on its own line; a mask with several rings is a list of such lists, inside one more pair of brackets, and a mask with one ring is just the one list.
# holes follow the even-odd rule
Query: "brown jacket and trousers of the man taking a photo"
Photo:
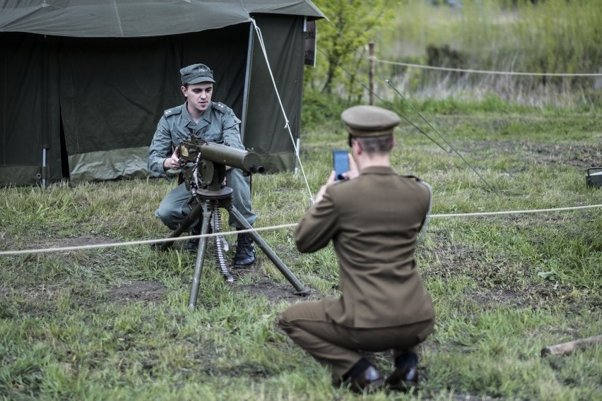
[[391, 167], [366, 167], [326, 188], [297, 226], [301, 252], [333, 241], [341, 296], [297, 303], [279, 324], [334, 381], [361, 358], [358, 349], [396, 356], [432, 331], [435, 311], [414, 258], [429, 208], [427, 185]]

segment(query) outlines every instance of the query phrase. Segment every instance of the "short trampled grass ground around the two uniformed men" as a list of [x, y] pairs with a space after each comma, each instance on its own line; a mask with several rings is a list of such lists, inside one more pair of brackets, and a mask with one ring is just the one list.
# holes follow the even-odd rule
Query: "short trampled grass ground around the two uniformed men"
[[[456, 216], [601, 204], [602, 188], [585, 185], [586, 169], [602, 164], [600, 114], [426, 117], [440, 136], [427, 124], [418, 126], [432, 140], [402, 124], [393, 162], [434, 188], [417, 257], [437, 326], [423, 344], [418, 394], [363, 398], [602, 400], [602, 345], [540, 355], [602, 334], [602, 209]], [[312, 193], [329, 174], [330, 151], [345, 142], [338, 121], [303, 133]], [[256, 227], [297, 222], [309, 205], [307, 186], [303, 174], [255, 175]], [[164, 238], [153, 210], [171, 187], [153, 179], [0, 188], [0, 251]], [[332, 249], [304, 255], [292, 229], [260, 234], [312, 289], [305, 299], [337, 294]], [[258, 256], [230, 286], [208, 255], [189, 311], [195, 258], [185, 241], [170, 251], [143, 244], [0, 255], [0, 397], [361, 399], [331, 388], [326, 371], [276, 328], [278, 313], [304, 299]], [[389, 355], [368, 357], [391, 370]]]

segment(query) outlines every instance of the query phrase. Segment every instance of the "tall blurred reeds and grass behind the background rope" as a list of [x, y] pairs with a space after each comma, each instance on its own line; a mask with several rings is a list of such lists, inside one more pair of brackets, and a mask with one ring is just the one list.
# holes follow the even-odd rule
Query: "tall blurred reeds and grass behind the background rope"
[[[410, 64], [519, 73], [601, 73], [602, 2], [463, 1], [461, 8], [408, 0], [374, 41], [377, 58]], [[537, 107], [601, 107], [600, 77], [512, 76], [433, 71], [377, 62], [412, 97], [481, 100], [495, 94]], [[367, 73], [367, 66], [365, 68]], [[377, 92], [391, 99], [377, 77]]]

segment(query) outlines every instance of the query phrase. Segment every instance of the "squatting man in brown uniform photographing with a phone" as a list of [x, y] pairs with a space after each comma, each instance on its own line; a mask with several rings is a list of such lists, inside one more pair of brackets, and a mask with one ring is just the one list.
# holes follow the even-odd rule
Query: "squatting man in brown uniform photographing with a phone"
[[[408, 390], [418, 385], [418, 345], [435, 326], [432, 300], [414, 258], [431, 190], [390, 166], [399, 116], [356, 106], [341, 118], [353, 155], [348, 179], [334, 181], [333, 172], [295, 231], [304, 253], [332, 239], [341, 296], [294, 304], [278, 325], [329, 368], [334, 385], [349, 383], [356, 392], [382, 385]], [[359, 351], [388, 349], [395, 369], [385, 380]]]

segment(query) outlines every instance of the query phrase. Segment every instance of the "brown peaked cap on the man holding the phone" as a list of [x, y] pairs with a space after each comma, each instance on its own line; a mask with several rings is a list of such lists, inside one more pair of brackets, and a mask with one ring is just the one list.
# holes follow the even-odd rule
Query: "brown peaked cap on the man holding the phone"
[[400, 119], [397, 114], [377, 106], [354, 106], [341, 114], [352, 136], [382, 136], [393, 133]]

